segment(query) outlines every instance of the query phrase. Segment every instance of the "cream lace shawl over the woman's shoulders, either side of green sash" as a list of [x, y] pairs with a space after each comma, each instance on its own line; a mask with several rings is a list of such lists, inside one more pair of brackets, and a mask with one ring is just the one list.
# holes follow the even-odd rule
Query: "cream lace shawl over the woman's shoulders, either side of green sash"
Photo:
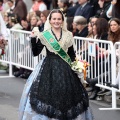
[[[51, 34], [51, 30], [48, 30]], [[53, 48], [49, 45], [49, 43], [45, 40], [45, 38], [42, 36], [42, 34], [39, 32], [38, 27], [34, 27], [33, 31], [35, 36], [37, 36], [37, 39], [41, 40], [41, 43], [46, 46], [46, 48], [55, 54], [57, 54]], [[62, 38], [59, 41], [60, 46], [67, 52], [68, 48], [73, 45], [73, 35], [71, 32], [63, 30], [62, 32]]]

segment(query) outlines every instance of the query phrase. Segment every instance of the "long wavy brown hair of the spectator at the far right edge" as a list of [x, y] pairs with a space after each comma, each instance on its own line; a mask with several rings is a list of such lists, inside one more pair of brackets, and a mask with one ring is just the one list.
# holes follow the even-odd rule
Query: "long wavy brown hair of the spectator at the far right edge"
[[113, 43], [117, 42], [120, 40], [120, 27], [116, 32], [112, 32], [110, 29], [110, 23], [112, 21], [115, 21], [119, 26], [120, 26], [120, 20], [118, 18], [112, 18], [109, 21], [109, 34], [108, 34], [108, 39], [111, 40]]

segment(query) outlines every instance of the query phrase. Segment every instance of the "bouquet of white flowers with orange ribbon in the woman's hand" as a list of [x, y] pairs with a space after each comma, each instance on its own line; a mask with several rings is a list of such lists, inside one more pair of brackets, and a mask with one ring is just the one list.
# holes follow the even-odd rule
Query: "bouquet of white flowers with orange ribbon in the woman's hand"
[[76, 58], [76, 61], [71, 63], [71, 68], [75, 73], [77, 73], [78, 77], [81, 78], [82, 83], [87, 83], [86, 76], [87, 76], [87, 67], [89, 66], [89, 63], [85, 60], [80, 60]]

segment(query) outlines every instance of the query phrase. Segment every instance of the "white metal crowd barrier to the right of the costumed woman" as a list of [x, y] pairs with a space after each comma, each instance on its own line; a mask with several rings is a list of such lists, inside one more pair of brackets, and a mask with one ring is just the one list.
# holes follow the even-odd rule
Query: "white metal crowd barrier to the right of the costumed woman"
[[[74, 40], [76, 55], [80, 56], [81, 59], [88, 61], [90, 64], [87, 77], [95, 78], [98, 76], [98, 83], [96, 86], [112, 91], [112, 107], [100, 109], [120, 110], [116, 104], [116, 93], [120, 92], [120, 80], [119, 89], [108, 85], [108, 83], [116, 84], [116, 65], [119, 64], [116, 60], [116, 49], [118, 48], [118, 45], [120, 46], [120, 43], [113, 45], [111, 41], [83, 37], [74, 37]], [[118, 51], [120, 50], [118, 49]]]

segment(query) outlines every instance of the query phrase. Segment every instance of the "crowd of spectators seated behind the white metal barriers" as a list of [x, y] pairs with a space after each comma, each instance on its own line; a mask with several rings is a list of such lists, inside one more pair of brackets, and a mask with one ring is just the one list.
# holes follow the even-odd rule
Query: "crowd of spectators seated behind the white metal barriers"
[[[32, 0], [32, 3], [32, 7], [27, 11], [23, 0], [0, 0], [0, 11], [6, 27], [32, 31], [37, 26], [42, 32], [50, 11], [60, 9], [67, 18], [67, 28], [73, 36], [110, 40], [113, 43], [120, 39], [120, 0]], [[96, 46], [96, 50], [98, 47], [99, 50], [107, 52], [108, 47], [104, 48], [101, 44]], [[26, 70], [15, 68], [13, 72], [16, 77], [28, 78], [31, 71], [25, 75]], [[93, 94], [90, 99], [95, 99], [100, 91], [95, 88], [97, 80], [97, 77], [87, 78], [92, 86]]]

